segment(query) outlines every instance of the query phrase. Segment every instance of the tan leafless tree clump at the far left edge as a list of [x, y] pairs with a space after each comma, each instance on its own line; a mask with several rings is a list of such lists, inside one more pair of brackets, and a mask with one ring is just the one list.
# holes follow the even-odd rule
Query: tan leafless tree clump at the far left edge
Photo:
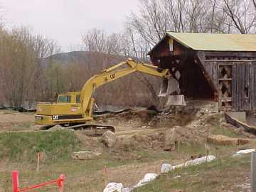
[[40, 99], [47, 87], [41, 62], [54, 53], [55, 43], [33, 36], [26, 27], [2, 30], [0, 40], [0, 89], [9, 105], [20, 107]]

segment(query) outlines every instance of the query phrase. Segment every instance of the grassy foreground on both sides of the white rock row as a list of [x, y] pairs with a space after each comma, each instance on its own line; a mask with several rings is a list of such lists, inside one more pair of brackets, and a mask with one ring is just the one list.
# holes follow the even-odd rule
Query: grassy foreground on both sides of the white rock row
[[[99, 159], [75, 161], [71, 158], [72, 152], [85, 149], [86, 146], [76, 137], [75, 132], [68, 131], [2, 133], [0, 148], [0, 191], [11, 191], [12, 170], [20, 171], [21, 187], [58, 178], [60, 174], [67, 176], [66, 191], [102, 191], [106, 183], [112, 181], [131, 186], [145, 173], [157, 173], [163, 162], [178, 164], [194, 154], [206, 153], [205, 146], [197, 143], [181, 144], [178, 151], [171, 153], [154, 150], [121, 153], [103, 147]], [[137, 191], [222, 191], [221, 188], [228, 188], [231, 183], [235, 187], [235, 182], [245, 182], [250, 167], [249, 157], [227, 158], [238, 150], [238, 146], [210, 146], [209, 150], [210, 154], [218, 157], [217, 161], [178, 169]], [[45, 159], [37, 173], [38, 151], [43, 151]], [[107, 173], [102, 171], [105, 166]], [[174, 179], [175, 176], [181, 177]], [[56, 191], [56, 186], [41, 191]]]

